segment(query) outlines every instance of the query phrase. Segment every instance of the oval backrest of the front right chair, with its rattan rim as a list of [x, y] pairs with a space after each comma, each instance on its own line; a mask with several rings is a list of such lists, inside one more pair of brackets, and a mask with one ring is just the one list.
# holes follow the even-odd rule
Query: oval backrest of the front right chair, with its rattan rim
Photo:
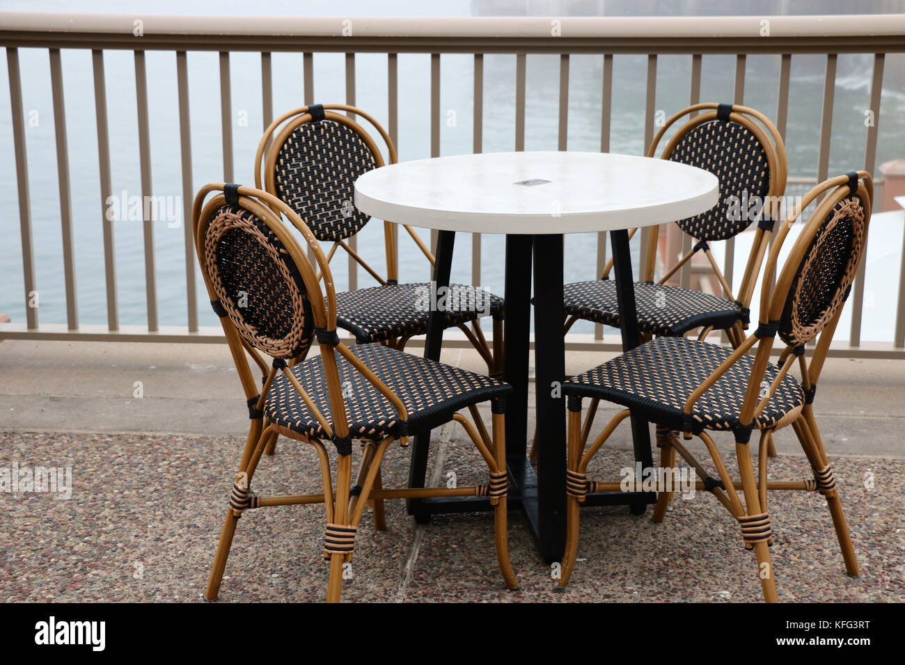
[[[817, 337], [842, 310], [862, 261], [872, 192], [858, 174], [835, 186], [795, 241], [776, 280], [771, 317], [790, 347]], [[829, 182], [829, 181], [828, 181]], [[820, 185], [818, 185], [820, 186]], [[826, 187], [824, 187], [826, 189]]]

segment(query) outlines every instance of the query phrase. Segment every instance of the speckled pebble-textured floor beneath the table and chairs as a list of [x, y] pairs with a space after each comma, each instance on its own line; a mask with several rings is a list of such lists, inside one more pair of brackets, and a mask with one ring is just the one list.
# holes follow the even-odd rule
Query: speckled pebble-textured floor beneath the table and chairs
[[[435, 480], [481, 478], [470, 444], [447, 426], [432, 450]], [[0, 495], [0, 600], [199, 601], [222, 524], [233, 464], [243, 440], [176, 435], [0, 433], [0, 467], [72, 467], [71, 499]], [[400, 486], [408, 451], [384, 465], [385, 485]], [[630, 463], [602, 453], [598, 477]], [[805, 477], [805, 461], [780, 456], [771, 478]], [[732, 465], [729, 464], [731, 467]], [[784, 601], [905, 599], [905, 461], [835, 461], [862, 576], [844, 575], [824, 500], [804, 492], [771, 494], [772, 554]], [[872, 474], [872, 488], [865, 479]], [[310, 450], [281, 439], [254, 489], [315, 491]], [[868, 483], [870, 484], [870, 483]], [[760, 600], [753, 555], [738, 527], [710, 496], [677, 499], [661, 525], [626, 508], [584, 510], [579, 563], [567, 593], [552, 590], [523, 518], [511, 514], [512, 563], [521, 589], [503, 589], [489, 514], [441, 516], [415, 527], [400, 501], [387, 502], [386, 532], [366, 515], [359, 529], [347, 601], [714, 601]], [[326, 566], [319, 557], [322, 508], [263, 508], [245, 514], [233, 543], [222, 602], [320, 601]]]

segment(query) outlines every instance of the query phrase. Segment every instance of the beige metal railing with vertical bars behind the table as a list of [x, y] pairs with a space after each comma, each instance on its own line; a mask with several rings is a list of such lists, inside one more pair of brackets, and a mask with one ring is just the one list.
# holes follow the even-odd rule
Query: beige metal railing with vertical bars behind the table
[[[140, 24], [140, 25], [139, 25]], [[140, 33], [140, 37], [138, 36]], [[117, 300], [116, 256], [113, 223], [104, 214], [104, 206], [112, 194], [110, 139], [108, 136], [107, 89], [104, 52], [125, 50], [134, 53], [140, 181], [142, 194], [153, 195], [148, 132], [148, 81], [145, 53], [169, 51], [176, 54], [176, 90], [178, 106], [178, 141], [181, 150], [182, 203], [184, 220], [190, 219], [195, 194], [192, 173], [192, 130], [189, 118], [189, 86], [186, 52], [219, 53], [219, 84], [222, 118], [223, 174], [233, 176], [233, 130], [231, 53], [259, 52], [261, 59], [261, 103], [263, 126], [273, 117], [273, 76], [271, 53], [302, 53], [304, 98], [315, 100], [314, 56], [316, 53], [344, 53], [346, 102], [356, 101], [356, 54], [386, 53], [386, 81], [378, 84], [387, 90], [387, 129], [399, 141], [399, 66], [400, 53], [425, 53], [430, 56], [430, 154], [440, 155], [442, 109], [440, 104], [441, 61], [444, 54], [465, 53], [473, 58], [472, 149], [480, 152], [484, 132], [484, 56], [510, 53], [515, 56], [515, 104], [512, 109], [514, 145], [525, 148], [526, 81], [529, 54], [558, 55], [559, 86], [557, 94], [557, 146], [567, 148], [569, 131], [569, 68], [575, 55], [602, 56], [599, 85], [602, 89], [600, 117], [600, 150], [609, 151], [614, 93], [614, 55], [646, 55], [646, 86], [643, 104], [643, 139], [648, 145], [654, 133], [657, 99], [658, 56], [682, 54], [691, 61], [691, 81], [687, 101], [700, 101], [702, 64], [710, 56], [735, 56], [733, 101], [745, 100], [747, 56], [776, 54], [780, 56], [776, 80], [776, 109], [772, 113], [776, 127], [785, 137], [789, 111], [791, 64], [802, 54], [818, 54], [825, 58], [823, 104], [816, 177], [820, 182], [829, 175], [830, 138], [834, 112], [837, 59], [843, 53], [872, 54], [870, 109], [874, 121], [865, 128], [863, 167], [873, 172], [877, 154], [883, 66], [888, 53], [905, 52], [905, 15], [839, 15], [839, 16], [774, 16], [757, 17], [668, 17], [668, 18], [263, 18], [210, 16], [148, 16], [113, 14], [37, 14], [0, 13], [0, 45], [5, 47], [9, 72], [10, 107], [19, 221], [22, 237], [24, 293], [37, 290], [35, 277], [32, 208], [25, 146], [25, 114], [22, 97], [22, 75], [19, 49], [46, 49], [50, 62], [52, 104], [57, 154], [57, 180], [62, 224], [62, 264], [66, 293], [66, 324], [39, 323], [38, 309], [26, 307], [24, 324], [0, 324], [2, 338], [109, 339], [117, 341], [222, 341], [218, 330], [199, 327], [196, 293], [195, 255], [191, 224], [183, 223], [185, 233], [186, 325], [164, 328], [158, 325], [157, 269], [155, 265], [154, 229], [150, 220], [143, 224], [145, 258], [145, 298], [147, 327], [121, 327]], [[106, 326], [80, 325], [76, 302], [71, 209], [71, 174], [66, 138], [65, 101], [61, 49], [90, 50], [93, 92], [97, 122], [97, 147], [100, 166], [100, 219], [103, 233], [103, 262], [106, 289]], [[679, 106], [685, 100], [679, 100]], [[678, 106], [677, 106], [678, 108]], [[866, 123], [865, 123], [866, 124]], [[212, 175], [210, 180], [219, 179]], [[790, 181], [790, 185], [795, 183]], [[801, 183], [797, 184], [801, 186]], [[642, 239], [643, 241], [643, 239]], [[691, 248], [685, 238], [683, 251]], [[605, 264], [605, 233], [597, 237], [596, 274]], [[643, 252], [642, 252], [643, 253]], [[727, 242], [725, 274], [729, 283], [735, 271], [734, 241]], [[643, 270], [643, 266], [641, 267]], [[905, 252], [897, 302], [895, 335], [891, 343], [862, 344], [862, 309], [864, 306], [864, 264], [853, 287], [849, 307], [853, 316], [847, 344], [835, 345], [832, 353], [841, 356], [905, 357]], [[680, 280], [688, 285], [691, 265], [681, 271]], [[472, 282], [481, 284], [481, 237], [472, 238]], [[357, 269], [349, 260], [348, 288], [357, 286]], [[617, 350], [618, 344], [604, 342], [603, 331], [567, 337], [572, 349]], [[463, 342], [451, 335], [452, 344]]]

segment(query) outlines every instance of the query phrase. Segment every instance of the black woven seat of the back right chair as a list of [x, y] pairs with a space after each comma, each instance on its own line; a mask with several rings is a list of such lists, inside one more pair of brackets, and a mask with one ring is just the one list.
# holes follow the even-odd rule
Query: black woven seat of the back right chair
[[[566, 316], [619, 328], [622, 318], [616, 303], [614, 280], [578, 281], [563, 288]], [[731, 328], [742, 318], [735, 302], [701, 291], [677, 286], [635, 282], [634, 300], [638, 328], [652, 335], [680, 336], [699, 326], [717, 330]]]

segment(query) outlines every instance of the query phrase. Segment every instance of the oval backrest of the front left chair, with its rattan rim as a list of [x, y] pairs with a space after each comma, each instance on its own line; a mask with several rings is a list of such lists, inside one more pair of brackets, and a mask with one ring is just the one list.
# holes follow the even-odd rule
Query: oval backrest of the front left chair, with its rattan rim
[[[307, 261], [304, 252], [269, 207], [229, 189], [214, 196], [195, 222], [214, 310], [269, 356], [303, 357], [315, 324], [299, 267]], [[319, 289], [315, 297], [322, 298]]]

